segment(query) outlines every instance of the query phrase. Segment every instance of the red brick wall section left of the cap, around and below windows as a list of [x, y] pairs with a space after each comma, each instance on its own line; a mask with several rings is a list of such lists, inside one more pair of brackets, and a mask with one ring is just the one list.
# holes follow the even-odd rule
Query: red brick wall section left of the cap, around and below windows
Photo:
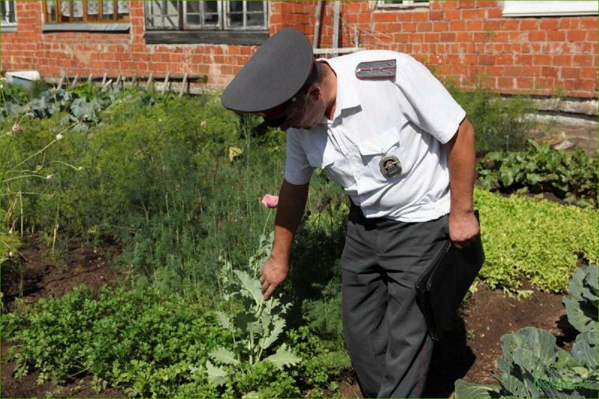
[[223, 87], [247, 62], [255, 46], [149, 44], [144, 41], [143, 1], [129, 2], [131, 29], [125, 34], [43, 33], [41, 1], [17, 1], [17, 32], [2, 33], [2, 68], [37, 69], [46, 77], [68, 75], [207, 74]]

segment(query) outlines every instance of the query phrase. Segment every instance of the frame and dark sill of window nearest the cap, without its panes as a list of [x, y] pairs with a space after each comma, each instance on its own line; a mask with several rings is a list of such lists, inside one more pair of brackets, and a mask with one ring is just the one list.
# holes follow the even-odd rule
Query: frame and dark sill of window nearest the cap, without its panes
[[[152, 18], [147, 14], [150, 2], [144, 3], [144, 25], [146, 44], [262, 44], [268, 39], [269, 2], [262, 1], [264, 13], [263, 26], [230, 26], [228, 19], [229, 2], [218, 1], [217, 25], [196, 25], [186, 23], [187, 3], [177, 2], [179, 25], [176, 28], [149, 27], [147, 22]], [[247, 20], [247, 2], [244, 2], [244, 24]]]

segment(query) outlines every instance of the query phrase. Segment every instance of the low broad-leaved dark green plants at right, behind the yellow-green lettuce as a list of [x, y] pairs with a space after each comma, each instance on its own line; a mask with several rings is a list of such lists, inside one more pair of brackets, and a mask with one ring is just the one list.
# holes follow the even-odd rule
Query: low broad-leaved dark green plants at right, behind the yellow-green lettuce
[[533, 140], [522, 151], [490, 152], [476, 165], [485, 189], [553, 192], [567, 202], [591, 206], [597, 205], [597, 168], [597, 156], [555, 150]]

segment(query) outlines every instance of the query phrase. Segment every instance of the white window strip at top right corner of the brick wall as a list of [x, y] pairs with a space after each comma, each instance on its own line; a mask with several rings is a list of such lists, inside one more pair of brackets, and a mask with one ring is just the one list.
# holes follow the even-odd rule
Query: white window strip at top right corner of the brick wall
[[599, 4], [597, 3], [597, 0], [506, 0], [503, 2], [504, 17], [570, 16], [597, 14], [599, 14]]

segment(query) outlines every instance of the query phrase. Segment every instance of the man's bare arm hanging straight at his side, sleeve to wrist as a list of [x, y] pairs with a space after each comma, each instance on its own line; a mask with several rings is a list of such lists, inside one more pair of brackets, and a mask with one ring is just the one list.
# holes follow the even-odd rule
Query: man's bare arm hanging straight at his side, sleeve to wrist
[[468, 119], [462, 120], [458, 132], [447, 144], [449, 187], [451, 191], [451, 213], [473, 211], [474, 187], [474, 129]]

